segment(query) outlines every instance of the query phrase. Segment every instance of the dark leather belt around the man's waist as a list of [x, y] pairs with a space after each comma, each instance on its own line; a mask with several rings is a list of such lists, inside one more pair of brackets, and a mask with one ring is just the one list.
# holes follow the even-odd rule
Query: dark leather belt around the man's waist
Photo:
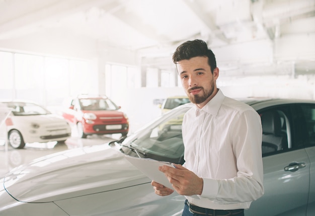
[[244, 209], [233, 209], [233, 210], [217, 210], [217, 209], [210, 209], [210, 208], [203, 208], [197, 205], [191, 204], [187, 201], [189, 206], [189, 210], [195, 214], [201, 215], [209, 215], [209, 216], [230, 216], [242, 213]]

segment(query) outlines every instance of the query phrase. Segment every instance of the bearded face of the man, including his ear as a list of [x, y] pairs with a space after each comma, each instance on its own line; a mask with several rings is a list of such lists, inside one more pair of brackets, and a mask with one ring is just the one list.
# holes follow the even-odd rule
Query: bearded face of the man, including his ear
[[218, 78], [219, 69], [214, 68], [212, 75], [208, 57], [198, 56], [181, 60], [177, 63], [177, 70], [192, 103], [203, 107], [216, 94], [215, 81]]

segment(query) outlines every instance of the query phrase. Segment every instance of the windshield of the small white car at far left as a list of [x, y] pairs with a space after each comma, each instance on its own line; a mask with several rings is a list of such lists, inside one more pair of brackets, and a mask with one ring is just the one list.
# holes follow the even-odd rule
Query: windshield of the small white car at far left
[[13, 115], [47, 115], [51, 114], [45, 108], [33, 104], [24, 102], [8, 102], [7, 107], [12, 108]]

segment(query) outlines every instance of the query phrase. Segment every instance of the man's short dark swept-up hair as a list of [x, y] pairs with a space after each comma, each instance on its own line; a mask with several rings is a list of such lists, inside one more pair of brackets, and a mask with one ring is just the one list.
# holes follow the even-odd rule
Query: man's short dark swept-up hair
[[173, 54], [173, 62], [177, 64], [181, 60], [189, 60], [197, 56], [208, 57], [208, 64], [213, 74], [213, 70], [216, 68], [214, 53], [208, 48], [207, 43], [200, 39], [189, 40], [179, 45]]

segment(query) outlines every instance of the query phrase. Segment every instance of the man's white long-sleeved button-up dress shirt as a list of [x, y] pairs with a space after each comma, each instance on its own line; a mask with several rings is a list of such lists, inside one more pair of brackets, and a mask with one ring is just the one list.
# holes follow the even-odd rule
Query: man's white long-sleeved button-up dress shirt
[[203, 178], [202, 194], [186, 196], [190, 203], [246, 209], [264, 194], [261, 118], [251, 106], [219, 90], [185, 114], [182, 131], [184, 167]]

